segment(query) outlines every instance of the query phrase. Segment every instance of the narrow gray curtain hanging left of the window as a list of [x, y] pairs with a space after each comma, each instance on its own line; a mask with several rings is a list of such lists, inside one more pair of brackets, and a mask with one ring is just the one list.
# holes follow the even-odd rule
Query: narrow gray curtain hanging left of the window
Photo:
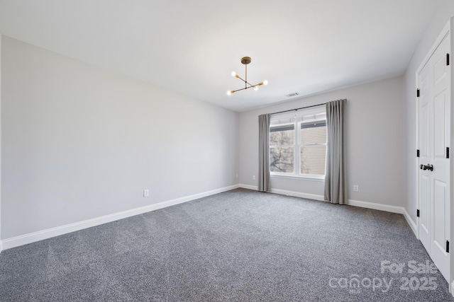
[[258, 117], [258, 190], [270, 191], [270, 115]]

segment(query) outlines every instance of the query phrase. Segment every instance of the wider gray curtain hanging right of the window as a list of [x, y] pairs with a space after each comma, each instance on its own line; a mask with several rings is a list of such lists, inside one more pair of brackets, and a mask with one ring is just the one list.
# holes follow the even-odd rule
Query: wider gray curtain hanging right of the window
[[326, 103], [326, 152], [325, 200], [332, 204], [348, 204], [345, 170], [345, 103], [333, 100]]

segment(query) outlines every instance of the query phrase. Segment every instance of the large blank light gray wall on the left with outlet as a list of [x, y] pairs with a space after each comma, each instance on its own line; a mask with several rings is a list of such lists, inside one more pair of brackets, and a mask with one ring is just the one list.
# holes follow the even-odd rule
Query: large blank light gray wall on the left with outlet
[[238, 113], [9, 37], [1, 50], [2, 239], [236, 184]]

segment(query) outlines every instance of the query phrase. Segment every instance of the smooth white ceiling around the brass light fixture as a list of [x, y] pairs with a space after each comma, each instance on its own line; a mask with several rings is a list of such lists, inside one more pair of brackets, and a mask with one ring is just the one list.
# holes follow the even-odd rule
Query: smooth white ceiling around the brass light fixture
[[[404, 74], [440, 0], [0, 0], [0, 33], [245, 111]], [[240, 58], [252, 57], [248, 80]]]

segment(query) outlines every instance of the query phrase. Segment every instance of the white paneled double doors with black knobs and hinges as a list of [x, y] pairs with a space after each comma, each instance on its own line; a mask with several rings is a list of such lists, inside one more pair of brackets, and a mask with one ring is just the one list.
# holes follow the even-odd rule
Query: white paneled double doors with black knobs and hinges
[[450, 280], [450, 39], [418, 74], [419, 239]]

